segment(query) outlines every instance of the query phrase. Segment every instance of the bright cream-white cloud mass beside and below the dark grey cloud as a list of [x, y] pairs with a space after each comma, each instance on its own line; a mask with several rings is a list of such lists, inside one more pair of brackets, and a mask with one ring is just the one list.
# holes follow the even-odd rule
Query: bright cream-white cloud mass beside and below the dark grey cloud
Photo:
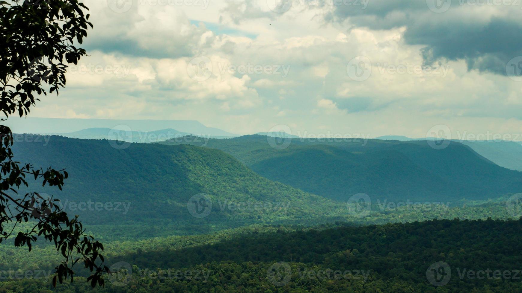
[[[424, 61], [423, 45], [406, 42], [406, 26], [372, 30], [358, 27], [353, 18], [325, 22], [333, 11], [327, 6], [292, 5], [275, 14], [264, 0], [211, 1], [207, 9], [138, 5], [120, 14], [104, 0], [86, 4], [94, 29], [85, 44], [91, 56], [80, 65], [104, 70], [67, 73], [60, 96], [42, 97], [31, 116], [192, 119], [244, 134], [286, 123], [309, 132], [321, 125], [332, 132], [410, 136], [440, 123], [478, 131], [519, 129], [522, 119], [520, 83], [468, 71], [465, 60], [444, 63], [444, 77], [397, 73], [401, 66], [420, 67]], [[480, 23], [515, 17], [493, 8], [459, 15]], [[395, 11], [377, 21], [395, 23], [406, 17]], [[430, 21], [438, 23], [424, 20]], [[197, 56], [212, 64], [212, 74], [203, 81], [187, 72]], [[348, 62], [357, 56], [371, 62], [371, 75], [363, 81], [347, 73]], [[288, 72], [283, 77], [229, 70], [248, 64]], [[111, 66], [128, 71], [114, 74], [106, 70]]]

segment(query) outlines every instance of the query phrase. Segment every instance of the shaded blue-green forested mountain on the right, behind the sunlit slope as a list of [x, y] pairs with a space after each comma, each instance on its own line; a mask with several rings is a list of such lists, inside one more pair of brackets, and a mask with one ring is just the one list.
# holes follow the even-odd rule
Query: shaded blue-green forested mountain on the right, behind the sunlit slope
[[[286, 139], [288, 147], [272, 147], [277, 139]], [[187, 143], [221, 149], [268, 179], [336, 200], [356, 193], [382, 200], [476, 200], [522, 190], [522, 173], [499, 167], [457, 142], [444, 149], [426, 141], [260, 135], [161, 142]]]

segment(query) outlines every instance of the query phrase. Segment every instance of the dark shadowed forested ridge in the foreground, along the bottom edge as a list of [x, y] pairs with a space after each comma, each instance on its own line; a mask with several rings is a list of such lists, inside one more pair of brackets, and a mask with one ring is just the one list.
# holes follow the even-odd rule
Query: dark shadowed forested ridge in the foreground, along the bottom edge
[[[519, 220], [271, 228], [122, 243], [101, 292], [518, 292]], [[151, 246], [155, 244], [155, 248]], [[89, 290], [85, 279], [57, 291]], [[0, 290], [52, 292], [49, 280]]]

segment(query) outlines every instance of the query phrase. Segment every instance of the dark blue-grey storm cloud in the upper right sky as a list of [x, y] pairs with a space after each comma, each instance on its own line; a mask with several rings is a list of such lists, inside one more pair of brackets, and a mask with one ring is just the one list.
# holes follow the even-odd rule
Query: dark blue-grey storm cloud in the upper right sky
[[511, 5], [486, 5], [500, 3], [496, 0], [479, 0], [484, 5], [454, 0], [441, 10], [433, 6], [430, 9], [430, 3], [434, 1], [440, 0], [370, 0], [365, 9], [339, 5], [326, 19], [346, 21], [351, 28], [406, 27], [405, 43], [425, 45], [421, 52], [427, 64], [462, 59], [469, 70], [506, 75], [510, 60], [522, 56], [522, 17], [509, 18], [522, 16], [516, 0], [504, 2]]

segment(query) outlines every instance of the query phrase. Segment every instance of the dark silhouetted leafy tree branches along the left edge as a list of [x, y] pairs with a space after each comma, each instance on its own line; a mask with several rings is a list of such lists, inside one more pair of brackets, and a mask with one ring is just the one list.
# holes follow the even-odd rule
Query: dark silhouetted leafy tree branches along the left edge
[[[77, 0], [0, 1], [0, 109], [5, 121], [11, 115], [27, 116], [39, 96], [65, 86], [69, 63], [77, 63], [86, 54], [77, 48], [92, 28], [85, 14], [88, 8]], [[110, 273], [103, 265], [103, 245], [85, 235], [78, 217], [69, 218], [53, 204], [57, 199], [38, 193], [17, 193], [28, 180], [62, 189], [65, 170], [37, 169], [13, 160], [13, 133], [0, 125], [0, 242], [8, 239], [17, 224], [34, 222], [32, 229], [19, 231], [15, 246], [31, 250], [34, 241], [43, 238], [56, 246], [64, 260], [56, 266], [53, 284], [73, 281], [73, 266], [83, 262], [93, 274], [94, 287], [104, 285], [102, 274]]]

